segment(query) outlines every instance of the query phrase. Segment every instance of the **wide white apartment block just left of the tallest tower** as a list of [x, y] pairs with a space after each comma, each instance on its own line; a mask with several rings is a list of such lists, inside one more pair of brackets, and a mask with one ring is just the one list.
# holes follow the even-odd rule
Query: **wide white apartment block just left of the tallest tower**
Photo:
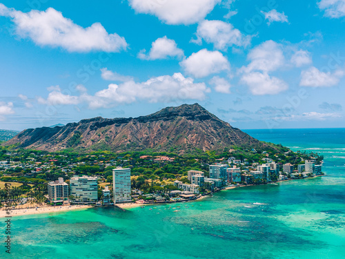
[[98, 200], [97, 177], [70, 178], [70, 195], [79, 203], [95, 203]]

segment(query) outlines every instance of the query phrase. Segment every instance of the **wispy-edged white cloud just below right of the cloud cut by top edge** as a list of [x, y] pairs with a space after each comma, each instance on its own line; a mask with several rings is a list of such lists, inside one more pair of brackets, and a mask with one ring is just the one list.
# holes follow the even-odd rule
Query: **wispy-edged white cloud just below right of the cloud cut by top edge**
[[246, 47], [250, 44], [251, 37], [244, 36], [235, 29], [230, 23], [224, 21], [201, 21], [197, 27], [197, 39], [192, 39], [192, 42], [201, 44], [201, 39], [204, 39], [208, 44], [213, 44], [219, 50], [227, 50], [231, 46]]

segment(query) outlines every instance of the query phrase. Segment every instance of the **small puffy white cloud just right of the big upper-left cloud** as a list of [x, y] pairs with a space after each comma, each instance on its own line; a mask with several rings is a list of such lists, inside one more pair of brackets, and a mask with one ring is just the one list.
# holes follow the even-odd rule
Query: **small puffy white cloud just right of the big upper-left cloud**
[[168, 39], [166, 36], [156, 39], [152, 42], [152, 48], [148, 55], [145, 54], [146, 50], [141, 50], [138, 54], [139, 59], [155, 60], [167, 59], [168, 57], [177, 57], [179, 59], [184, 57], [184, 50], [177, 48], [174, 40]]

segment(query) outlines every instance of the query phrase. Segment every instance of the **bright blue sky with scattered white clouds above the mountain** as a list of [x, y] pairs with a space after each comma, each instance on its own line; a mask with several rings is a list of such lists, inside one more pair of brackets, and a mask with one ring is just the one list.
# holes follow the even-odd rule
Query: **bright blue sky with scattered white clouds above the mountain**
[[345, 127], [345, 0], [1, 1], [0, 128], [198, 102], [238, 128]]

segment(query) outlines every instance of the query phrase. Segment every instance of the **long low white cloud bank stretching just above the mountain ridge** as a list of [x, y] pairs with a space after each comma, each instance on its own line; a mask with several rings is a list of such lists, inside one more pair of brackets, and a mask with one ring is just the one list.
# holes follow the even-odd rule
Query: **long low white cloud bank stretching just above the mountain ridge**
[[88, 108], [110, 108], [117, 104], [130, 104], [139, 99], [148, 102], [173, 102], [176, 100], [203, 100], [210, 89], [204, 83], [195, 83], [190, 77], [181, 73], [152, 77], [148, 81], [137, 83], [133, 80], [122, 84], [109, 84], [108, 88], [99, 90], [95, 95], [81, 92], [80, 95], [68, 95], [55, 88], [46, 99], [38, 98], [41, 104], [75, 105], [87, 104]]

